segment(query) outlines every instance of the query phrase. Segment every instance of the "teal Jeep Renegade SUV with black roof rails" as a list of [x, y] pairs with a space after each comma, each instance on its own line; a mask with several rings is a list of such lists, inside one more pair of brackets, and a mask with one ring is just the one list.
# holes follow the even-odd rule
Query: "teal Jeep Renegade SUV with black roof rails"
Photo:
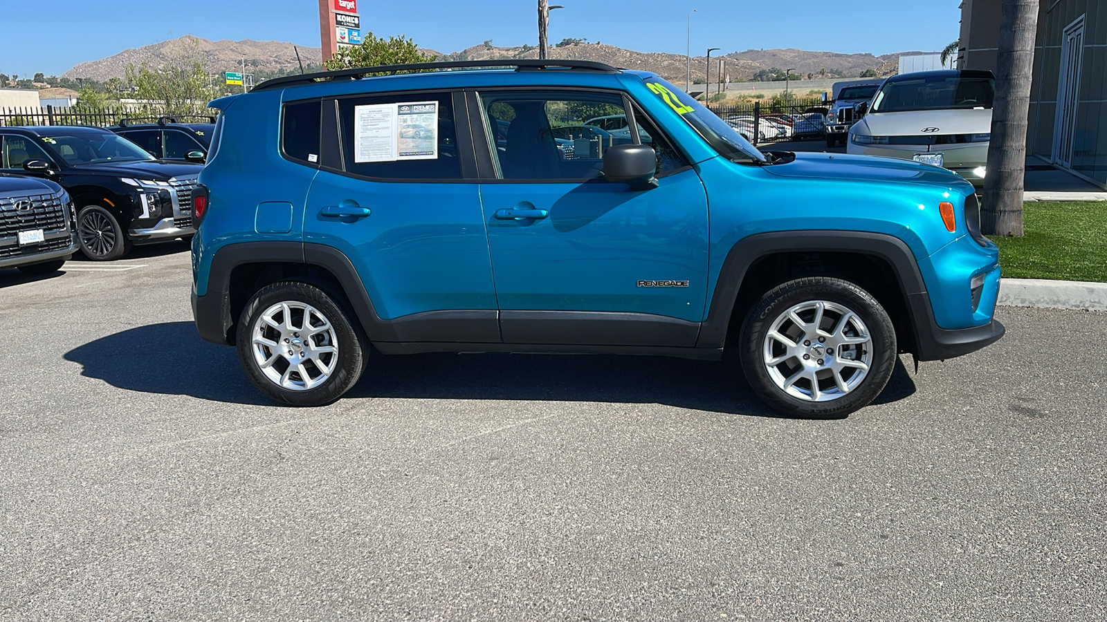
[[[935, 166], [762, 154], [584, 61], [377, 66], [216, 100], [193, 310], [250, 380], [337, 400], [370, 352], [741, 355], [796, 415], [995, 342], [996, 247]], [[628, 132], [597, 131], [622, 115]], [[735, 382], [738, 380], [735, 379]]]

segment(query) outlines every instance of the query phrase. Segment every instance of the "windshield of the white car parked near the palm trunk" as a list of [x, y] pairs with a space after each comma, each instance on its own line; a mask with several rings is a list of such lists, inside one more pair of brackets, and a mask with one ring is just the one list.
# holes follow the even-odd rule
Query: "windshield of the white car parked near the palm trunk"
[[991, 108], [994, 96], [995, 80], [991, 77], [891, 77], [872, 101], [872, 112]]

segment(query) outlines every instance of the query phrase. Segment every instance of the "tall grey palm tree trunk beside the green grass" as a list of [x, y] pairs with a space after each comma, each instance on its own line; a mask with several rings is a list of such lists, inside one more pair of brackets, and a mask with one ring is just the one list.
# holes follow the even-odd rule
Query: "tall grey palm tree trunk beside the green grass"
[[997, 236], [1022, 236], [1026, 124], [1038, 0], [1003, 0], [1001, 11], [981, 229]]

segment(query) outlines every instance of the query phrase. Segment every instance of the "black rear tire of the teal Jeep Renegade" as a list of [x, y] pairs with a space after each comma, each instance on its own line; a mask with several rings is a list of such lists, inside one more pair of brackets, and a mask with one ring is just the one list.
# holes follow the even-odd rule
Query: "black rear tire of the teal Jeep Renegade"
[[[270, 376], [262, 370], [261, 363], [256, 357], [254, 344], [255, 324], [259, 322], [259, 319], [267, 310], [280, 303], [310, 305], [325, 318], [333, 330], [332, 339], [334, 343], [330, 345], [337, 348], [338, 352], [333, 359], [322, 361], [324, 365], [330, 365], [332, 371], [318, 386], [299, 390], [287, 388], [279, 384], [279, 380], [270, 380]], [[330, 404], [358, 383], [358, 379], [361, 377], [368, 362], [369, 340], [359, 329], [351, 324], [351, 318], [353, 318], [352, 313], [314, 286], [299, 281], [282, 281], [267, 286], [254, 294], [254, 298], [246, 304], [239, 318], [238, 331], [236, 333], [238, 359], [242, 364], [242, 369], [246, 370], [246, 375], [249, 376], [254, 385], [277, 402], [292, 406], [322, 406]], [[294, 317], [290, 325], [297, 325]], [[301, 328], [307, 325], [302, 315], [299, 319], [299, 325]], [[259, 330], [279, 332], [271, 326], [260, 328]], [[262, 334], [260, 336], [266, 335]], [[323, 336], [325, 338], [327, 335]], [[297, 333], [297, 338], [300, 338], [299, 333]], [[304, 344], [308, 343], [308, 339], [314, 338], [307, 338], [304, 335]], [[273, 341], [278, 343], [282, 342], [282, 340]], [[329, 339], [324, 339], [317, 345], [325, 346], [328, 345], [328, 341]], [[283, 351], [283, 346], [281, 350]], [[268, 351], [269, 349], [263, 349], [260, 352], [266, 354]], [[273, 360], [276, 362], [270, 365], [270, 369], [280, 372], [282, 376], [283, 372], [288, 372], [292, 367], [291, 360], [284, 357], [283, 354], [280, 354], [280, 359], [273, 357]], [[283, 367], [280, 365], [283, 365]], [[310, 366], [306, 367], [306, 371], [309, 376], [311, 376], [312, 371], [319, 372], [320, 376], [323, 374], [323, 367], [315, 365], [315, 363], [311, 363]], [[317, 376], [317, 379], [320, 376]], [[309, 381], [311, 380], [315, 379], [309, 379]], [[300, 372], [290, 372], [289, 382], [303, 383]]]

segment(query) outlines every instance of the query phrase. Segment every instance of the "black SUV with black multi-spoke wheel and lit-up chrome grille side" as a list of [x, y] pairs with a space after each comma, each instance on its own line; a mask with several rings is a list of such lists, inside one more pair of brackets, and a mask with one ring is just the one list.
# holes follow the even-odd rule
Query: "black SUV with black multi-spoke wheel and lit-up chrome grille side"
[[0, 172], [41, 177], [76, 206], [81, 251], [118, 259], [133, 243], [188, 238], [199, 164], [164, 162], [99, 127], [0, 127]]

